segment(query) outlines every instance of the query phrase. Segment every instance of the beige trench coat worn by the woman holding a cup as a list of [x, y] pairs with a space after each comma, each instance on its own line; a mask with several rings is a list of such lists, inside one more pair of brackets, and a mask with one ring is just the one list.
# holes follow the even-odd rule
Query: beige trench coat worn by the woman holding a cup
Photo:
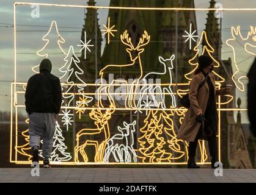
[[[225, 94], [225, 88], [221, 90], [216, 90], [215, 88], [215, 78], [213, 74], [209, 74], [211, 82], [214, 86], [214, 92], [216, 96]], [[205, 76], [203, 73], [196, 74], [191, 80], [189, 87], [189, 101], [190, 107], [188, 108], [188, 112], [186, 112], [185, 118], [180, 126], [180, 130], [178, 130], [177, 138], [185, 141], [194, 141], [197, 133], [200, 128], [200, 123], [196, 122], [196, 114], [199, 112], [205, 113], [205, 109], [207, 107], [207, 102], [209, 98], [209, 87], [207, 82], [205, 85], [197, 91], [200, 83], [203, 82]], [[214, 101], [216, 104], [216, 97], [214, 97]]]

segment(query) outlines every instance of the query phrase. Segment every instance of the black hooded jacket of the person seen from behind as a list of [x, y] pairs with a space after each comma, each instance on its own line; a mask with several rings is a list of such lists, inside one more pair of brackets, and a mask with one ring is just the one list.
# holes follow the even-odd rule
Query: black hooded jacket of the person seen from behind
[[26, 112], [59, 113], [62, 102], [60, 80], [51, 74], [51, 62], [40, 63], [40, 73], [29, 78], [25, 93]]

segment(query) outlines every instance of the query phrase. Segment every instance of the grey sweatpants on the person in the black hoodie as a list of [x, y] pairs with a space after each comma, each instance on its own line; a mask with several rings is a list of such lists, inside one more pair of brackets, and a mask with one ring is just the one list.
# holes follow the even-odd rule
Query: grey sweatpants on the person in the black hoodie
[[53, 149], [53, 135], [55, 132], [56, 114], [37, 113], [29, 115], [29, 146], [40, 146], [43, 140], [43, 158], [49, 158]]

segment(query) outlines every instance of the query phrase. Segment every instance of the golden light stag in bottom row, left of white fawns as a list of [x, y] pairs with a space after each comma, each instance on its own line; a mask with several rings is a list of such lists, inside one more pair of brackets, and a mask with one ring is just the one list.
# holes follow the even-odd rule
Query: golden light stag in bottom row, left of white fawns
[[[103, 110], [94, 109], [89, 113], [91, 119], [93, 119], [94, 129], [81, 129], [76, 133], [76, 146], [75, 146], [75, 161], [79, 162], [79, 156], [82, 157], [84, 162], [88, 162], [88, 156], [86, 154], [86, 146], [95, 146], [94, 161], [97, 163], [104, 162], [104, 151], [106, 144], [110, 138], [109, 119], [111, 119], [112, 113], [115, 112], [114, 105], [110, 105], [111, 109]], [[100, 141], [98, 141], [100, 140]]]

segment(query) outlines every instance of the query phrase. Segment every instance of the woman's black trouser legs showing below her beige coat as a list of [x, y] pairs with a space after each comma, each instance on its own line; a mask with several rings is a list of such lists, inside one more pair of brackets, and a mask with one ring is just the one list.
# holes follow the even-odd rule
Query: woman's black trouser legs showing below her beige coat
[[[198, 137], [196, 137], [195, 141], [190, 141], [188, 146], [188, 156], [196, 157], [196, 149], [198, 143]], [[210, 151], [210, 155], [214, 159], [218, 159], [217, 154], [217, 138], [215, 136], [211, 136], [208, 138], [208, 147]]]

